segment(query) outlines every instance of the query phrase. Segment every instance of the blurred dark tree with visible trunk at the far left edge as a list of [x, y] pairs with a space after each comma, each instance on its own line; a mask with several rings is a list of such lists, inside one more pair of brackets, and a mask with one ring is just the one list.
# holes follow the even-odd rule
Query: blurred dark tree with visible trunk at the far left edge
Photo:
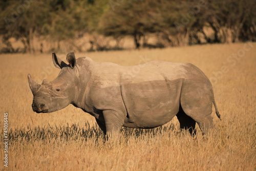
[[24, 44], [25, 52], [31, 52], [30, 42], [34, 34], [41, 34], [42, 26], [48, 23], [49, 8], [43, 2], [8, 1], [1, 13], [1, 34], [9, 44], [8, 39], [14, 37]]

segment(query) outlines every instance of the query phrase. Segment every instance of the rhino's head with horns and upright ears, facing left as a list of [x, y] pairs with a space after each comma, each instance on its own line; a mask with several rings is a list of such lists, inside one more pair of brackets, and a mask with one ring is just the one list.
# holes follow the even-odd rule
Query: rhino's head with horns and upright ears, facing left
[[[33, 93], [32, 109], [36, 113], [51, 113], [65, 108], [75, 99], [78, 82], [78, 68], [74, 53], [67, 55], [69, 65], [52, 54], [54, 66], [61, 69], [57, 78], [51, 82], [44, 79], [42, 84], [35, 82], [28, 74], [28, 82]], [[78, 85], [75, 84], [75, 85]]]

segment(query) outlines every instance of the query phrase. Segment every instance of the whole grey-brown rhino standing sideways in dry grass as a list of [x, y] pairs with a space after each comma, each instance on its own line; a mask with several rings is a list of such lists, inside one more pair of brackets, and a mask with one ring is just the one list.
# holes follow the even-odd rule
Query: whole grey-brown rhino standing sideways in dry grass
[[151, 61], [123, 67], [89, 57], [76, 60], [69, 53], [67, 65], [55, 53], [52, 58], [61, 69], [55, 80], [40, 85], [28, 75], [34, 112], [51, 113], [73, 104], [94, 116], [110, 136], [119, 136], [121, 126], [150, 129], [174, 116], [191, 134], [196, 123], [207, 132], [213, 127], [212, 103], [220, 118], [209, 79], [191, 63]]

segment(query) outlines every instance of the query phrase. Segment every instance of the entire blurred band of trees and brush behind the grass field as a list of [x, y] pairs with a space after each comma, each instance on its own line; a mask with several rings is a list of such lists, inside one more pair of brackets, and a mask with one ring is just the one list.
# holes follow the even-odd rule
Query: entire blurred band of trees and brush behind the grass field
[[0, 8], [2, 53], [256, 40], [255, 0], [1, 0]]

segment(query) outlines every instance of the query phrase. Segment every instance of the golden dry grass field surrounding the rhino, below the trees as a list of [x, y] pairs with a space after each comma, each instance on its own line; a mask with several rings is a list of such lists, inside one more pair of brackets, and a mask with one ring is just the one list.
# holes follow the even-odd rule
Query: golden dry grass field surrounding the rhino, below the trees
[[[66, 54], [57, 54], [66, 58]], [[120, 143], [104, 142], [92, 116], [73, 105], [50, 114], [32, 111], [28, 73], [39, 83], [59, 70], [51, 54], [2, 54], [1, 169], [9, 170], [255, 170], [256, 44], [202, 45], [75, 54], [129, 66], [163, 60], [191, 62], [210, 78], [222, 121], [207, 138], [191, 137], [172, 121], [153, 130], [123, 129]], [[159, 109], [161, 110], [161, 109]], [[8, 168], [4, 113], [8, 113]]]

